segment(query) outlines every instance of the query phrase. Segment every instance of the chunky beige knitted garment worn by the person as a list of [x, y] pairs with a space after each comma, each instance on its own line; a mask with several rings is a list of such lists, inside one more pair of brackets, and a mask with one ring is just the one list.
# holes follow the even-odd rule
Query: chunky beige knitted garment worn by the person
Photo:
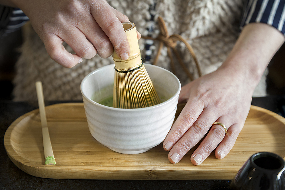
[[[142, 36], [149, 35], [146, 30], [150, 26], [150, 13], [148, 11], [153, 0], [107, 0], [107, 2], [127, 15], [129, 20], [136, 24]], [[158, 0], [154, 21], [161, 16], [168, 28], [169, 34], [180, 34], [193, 47], [198, 58], [202, 74], [215, 71], [226, 59], [234, 46], [238, 36], [238, 21], [241, 16], [243, 0]], [[152, 37], [159, 33], [155, 25]], [[24, 43], [22, 54], [16, 63], [17, 75], [14, 80], [13, 91], [15, 101], [36, 101], [35, 82], [40, 80], [43, 84], [45, 100], [82, 100], [80, 83], [91, 71], [113, 64], [111, 57], [102, 59], [98, 55], [73, 68], [64, 68], [54, 62], [47, 54], [44, 44], [28, 23], [23, 28]], [[139, 40], [142, 57], [144, 57], [145, 40]], [[73, 50], [64, 43], [68, 52]], [[158, 42], [152, 48], [154, 58]], [[187, 52], [184, 44], [178, 43], [177, 48], [190, 72], [198, 78], [197, 69], [193, 59]], [[170, 60], [167, 57], [166, 47], [162, 48], [158, 66], [170, 70]], [[170, 70], [171, 71], [171, 70]], [[190, 82], [187, 75], [176, 64], [176, 73], [182, 85]], [[266, 73], [254, 92], [254, 96], [266, 95]], [[103, 80], [103, 79], [102, 79]]]

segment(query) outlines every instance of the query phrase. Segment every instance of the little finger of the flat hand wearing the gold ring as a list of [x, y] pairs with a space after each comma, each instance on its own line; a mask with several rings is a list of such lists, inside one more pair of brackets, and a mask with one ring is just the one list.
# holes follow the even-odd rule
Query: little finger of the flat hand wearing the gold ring
[[225, 138], [223, 138], [223, 140], [221, 141], [221, 143], [219, 144], [219, 146], [217, 146], [215, 150], [216, 158], [222, 159], [222, 158], [225, 158], [227, 154], [229, 154], [242, 128], [243, 128], [243, 124], [234, 124], [228, 129], [227, 134], [225, 135]]

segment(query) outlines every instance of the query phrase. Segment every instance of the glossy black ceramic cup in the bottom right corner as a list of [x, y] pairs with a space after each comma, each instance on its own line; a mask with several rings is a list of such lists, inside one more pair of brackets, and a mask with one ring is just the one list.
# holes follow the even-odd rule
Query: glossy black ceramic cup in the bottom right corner
[[230, 190], [285, 190], [285, 162], [271, 152], [253, 154], [241, 167]]

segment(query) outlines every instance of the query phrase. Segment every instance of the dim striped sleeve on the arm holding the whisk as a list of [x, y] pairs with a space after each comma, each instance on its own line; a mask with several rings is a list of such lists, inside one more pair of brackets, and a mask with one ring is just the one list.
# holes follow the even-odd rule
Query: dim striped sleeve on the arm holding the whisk
[[0, 5], [0, 36], [15, 32], [28, 20], [21, 9]]

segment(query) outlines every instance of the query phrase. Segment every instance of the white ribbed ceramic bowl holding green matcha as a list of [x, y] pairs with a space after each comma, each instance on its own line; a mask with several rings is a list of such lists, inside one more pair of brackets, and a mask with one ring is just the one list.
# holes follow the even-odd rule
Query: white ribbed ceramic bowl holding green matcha
[[144, 65], [162, 103], [146, 108], [120, 109], [98, 102], [113, 96], [114, 65], [89, 73], [81, 83], [81, 93], [92, 136], [109, 149], [138, 154], [160, 144], [169, 132], [177, 109], [181, 85], [168, 70]]

